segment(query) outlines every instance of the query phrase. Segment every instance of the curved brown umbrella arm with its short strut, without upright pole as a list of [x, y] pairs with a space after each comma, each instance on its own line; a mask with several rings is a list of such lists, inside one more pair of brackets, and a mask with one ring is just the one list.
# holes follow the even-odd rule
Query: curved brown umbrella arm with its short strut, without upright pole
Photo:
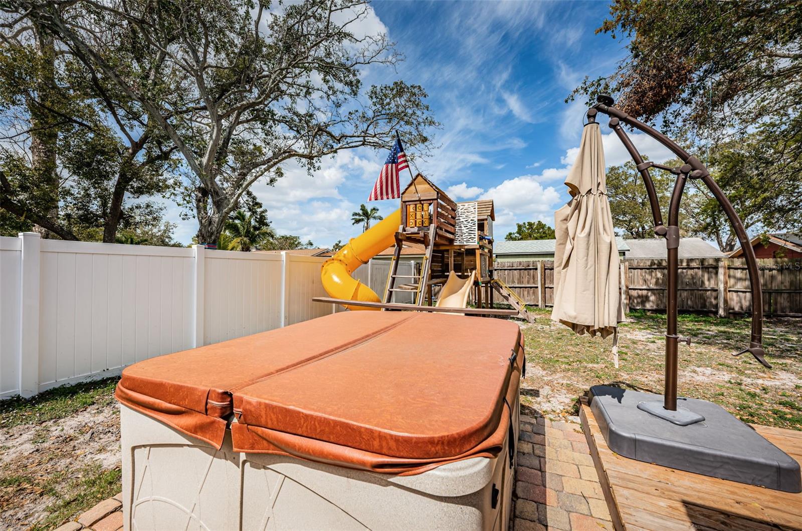
[[[657, 140], [659, 143], [662, 143], [663, 146], [667, 147], [670, 151], [677, 155], [679, 159], [683, 160], [683, 163], [686, 163], [691, 167], [691, 171], [688, 174], [688, 177], [691, 179], [702, 179], [705, 186], [707, 186], [708, 190], [711, 191], [711, 194], [715, 197], [715, 199], [719, 202], [721, 207], [724, 209], [724, 212], [727, 214], [727, 219], [730, 220], [730, 223], [735, 229], [735, 235], [738, 237], [738, 241], [741, 244], [741, 248], [743, 249], [743, 256], [747, 262], [747, 272], [749, 273], [749, 284], [751, 286], [751, 299], [752, 299], [752, 316], [751, 316], [751, 340], [748, 348], [744, 348], [741, 352], [736, 352], [735, 356], [739, 354], [743, 354], [745, 352], [751, 353], [752, 356], [755, 356], [755, 360], [758, 360], [760, 364], [763, 364], [765, 367], [771, 368], [771, 365], [765, 360], [764, 349], [763, 349], [763, 292], [760, 289], [760, 277], [758, 272], [757, 266], [757, 259], [755, 259], [755, 250], [751, 247], [751, 243], [749, 242], [749, 238], [747, 236], [746, 230], [743, 228], [743, 223], [741, 223], [738, 214], [735, 212], [735, 208], [730, 203], [730, 200], [727, 199], [727, 196], [724, 195], [724, 192], [721, 190], [719, 185], [715, 182], [715, 180], [711, 177], [710, 171], [707, 170], [707, 167], [697, 159], [695, 156], [691, 155], [687, 151], [685, 151], [682, 147], [675, 143], [673, 140], [668, 138], [666, 135], [663, 135], [660, 131], [654, 129], [654, 127], [650, 127], [646, 123], [627, 115], [626, 112], [616, 108], [613, 106], [613, 100], [609, 96], [601, 96], [599, 98], [600, 102], [590, 108], [589, 112], [589, 119], [591, 116], [595, 117], [597, 112], [602, 112], [611, 118], [618, 119], [623, 123], [634, 127], [640, 131], [646, 133], [653, 139]], [[595, 112], [594, 112], [595, 111]], [[658, 225], [658, 215], [659, 215], [659, 207], [657, 207], [657, 214], [655, 214], [655, 205], [657, 205], [657, 196], [654, 194], [654, 184], [649, 186], [651, 183], [651, 179], [648, 180], [648, 172], [644, 174], [646, 168], [641, 168], [643, 163], [642, 157], [638, 154], [638, 151], [634, 148], [631, 140], [626, 136], [626, 132], [622, 131], [621, 126], [618, 123], [612, 123], [613, 120], [610, 120], [611, 127], [613, 127], [614, 131], [618, 135], [618, 138], [621, 139], [624, 147], [626, 147], [627, 151], [630, 152], [635, 164], [638, 165], [638, 171], [641, 172], [641, 175], [644, 178], [644, 183], [646, 183], [646, 191], [649, 194], [649, 201], [652, 205], [652, 214], [655, 220], [655, 230], [659, 227]], [[621, 130], [621, 132], [619, 132]], [[623, 134], [622, 134], [623, 133]], [[654, 195], [653, 195], [654, 194]], [[662, 223], [660, 223], [662, 225]]]

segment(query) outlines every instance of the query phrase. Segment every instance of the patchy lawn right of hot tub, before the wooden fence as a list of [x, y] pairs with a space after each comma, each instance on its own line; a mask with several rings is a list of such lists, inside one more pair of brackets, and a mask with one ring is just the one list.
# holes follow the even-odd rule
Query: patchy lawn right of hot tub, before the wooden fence
[[[521, 401], [550, 416], [575, 414], [576, 397], [591, 385], [613, 384], [662, 392], [666, 317], [632, 312], [622, 323], [618, 354], [612, 340], [577, 336], [549, 319], [550, 310], [532, 308], [534, 324], [522, 324], [529, 369]], [[681, 314], [678, 392], [711, 400], [752, 424], [802, 430], [802, 321], [767, 319], [764, 347], [772, 369], [750, 355], [731, 356], [749, 342], [750, 320]]]

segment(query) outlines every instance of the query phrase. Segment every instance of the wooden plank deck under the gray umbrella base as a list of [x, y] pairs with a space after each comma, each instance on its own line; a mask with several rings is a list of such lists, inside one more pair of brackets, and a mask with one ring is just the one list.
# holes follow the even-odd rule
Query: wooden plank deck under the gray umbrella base
[[[587, 404], [582, 428], [616, 529], [802, 529], [802, 494], [669, 469], [619, 456]], [[802, 463], [802, 432], [754, 426]]]

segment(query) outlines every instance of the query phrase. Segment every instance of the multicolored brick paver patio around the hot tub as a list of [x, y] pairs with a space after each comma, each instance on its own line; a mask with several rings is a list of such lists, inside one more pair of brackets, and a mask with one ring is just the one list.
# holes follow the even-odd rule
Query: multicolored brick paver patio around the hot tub
[[[613, 529], [578, 419], [552, 422], [521, 415], [519, 439], [510, 531]], [[120, 496], [101, 501], [56, 531], [122, 529]]]

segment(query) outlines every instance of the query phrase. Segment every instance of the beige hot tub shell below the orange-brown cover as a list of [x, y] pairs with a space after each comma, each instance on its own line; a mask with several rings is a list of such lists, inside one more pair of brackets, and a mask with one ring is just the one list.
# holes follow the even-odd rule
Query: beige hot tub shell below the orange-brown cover
[[509, 437], [498, 457], [395, 476], [234, 452], [230, 432], [218, 450], [125, 405], [120, 422], [124, 529], [508, 529]]

